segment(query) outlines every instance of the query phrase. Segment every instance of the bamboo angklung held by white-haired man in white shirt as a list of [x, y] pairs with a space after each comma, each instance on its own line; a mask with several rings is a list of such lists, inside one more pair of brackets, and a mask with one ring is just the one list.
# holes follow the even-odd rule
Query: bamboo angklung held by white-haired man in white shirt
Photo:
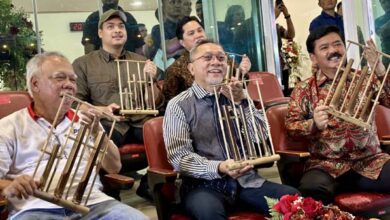
[[[102, 161], [104, 160], [109, 143], [104, 141], [106, 134], [102, 129], [98, 132], [93, 132], [90, 127], [81, 123], [76, 123], [78, 120], [77, 114], [81, 105], [87, 105], [113, 121], [110, 133], [107, 136], [108, 139], [111, 137], [116, 124], [116, 119], [89, 103], [73, 96], [68, 94], [62, 94], [62, 96], [63, 98], [53, 124], [57, 124], [57, 121], [59, 120], [59, 114], [65, 99], [76, 102], [77, 107], [70, 125], [67, 128], [66, 138], [63, 143], [60, 143], [57, 138], [53, 139], [53, 137], [55, 137], [53, 133], [54, 126], [52, 126], [49, 131], [45, 144], [41, 149], [42, 153], [37, 161], [33, 178], [38, 177], [38, 168], [43, 166], [42, 160], [44, 156], [48, 155], [49, 159], [43, 169], [42, 175], [39, 177], [40, 186], [39, 189], [34, 192], [34, 196], [64, 208], [71, 209], [75, 212], [86, 214], [89, 212], [87, 202], [102, 166]], [[77, 134], [74, 134], [76, 131], [78, 131]], [[64, 157], [66, 158], [66, 162], [61, 169], [60, 163], [64, 160]], [[82, 162], [85, 163], [83, 166], [84, 169], [80, 168]], [[95, 171], [94, 175], [92, 175], [93, 171]], [[59, 176], [58, 173], [60, 173]], [[58, 181], [54, 181], [54, 179]], [[56, 182], [56, 184], [54, 184], [54, 182]], [[85, 194], [87, 189], [88, 193]], [[71, 193], [73, 195], [69, 196]]]

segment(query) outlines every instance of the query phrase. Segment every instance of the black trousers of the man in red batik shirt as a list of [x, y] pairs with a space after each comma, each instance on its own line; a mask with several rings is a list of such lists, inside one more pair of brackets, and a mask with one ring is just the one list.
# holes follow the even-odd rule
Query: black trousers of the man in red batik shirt
[[340, 192], [371, 191], [390, 193], [390, 161], [385, 163], [377, 180], [361, 176], [353, 170], [333, 178], [320, 169], [307, 171], [300, 182], [299, 191], [303, 196], [321, 200], [325, 204], [332, 203]]

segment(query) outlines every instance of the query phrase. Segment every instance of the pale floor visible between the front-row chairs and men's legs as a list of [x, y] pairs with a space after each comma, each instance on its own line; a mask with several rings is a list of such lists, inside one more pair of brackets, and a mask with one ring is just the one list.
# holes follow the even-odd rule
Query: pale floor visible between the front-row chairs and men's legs
[[[145, 173], [145, 170], [139, 171], [139, 173]], [[277, 172], [276, 165], [274, 165], [271, 168], [259, 169], [259, 173], [269, 181], [280, 183], [280, 178]], [[141, 210], [150, 219], [156, 220], [157, 212], [154, 204], [136, 195], [135, 191], [138, 185], [139, 185], [139, 180], [136, 180], [131, 190], [124, 190], [121, 192], [122, 202], [138, 210]]]

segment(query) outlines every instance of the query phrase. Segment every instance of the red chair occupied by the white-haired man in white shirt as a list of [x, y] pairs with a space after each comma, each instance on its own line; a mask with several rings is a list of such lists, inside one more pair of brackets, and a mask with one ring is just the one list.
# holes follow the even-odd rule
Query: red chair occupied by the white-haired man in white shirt
[[[26, 108], [32, 101], [31, 96], [23, 91], [0, 91], [0, 119], [22, 108]], [[118, 174], [107, 174], [102, 178], [104, 188], [110, 183], [109, 188], [129, 189], [134, 184], [134, 179]], [[106, 191], [103, 189], [103, 191]], [[6, 219], [8, 213], [5, 205], [7, 201], [0, 197], [0, 219]]]

